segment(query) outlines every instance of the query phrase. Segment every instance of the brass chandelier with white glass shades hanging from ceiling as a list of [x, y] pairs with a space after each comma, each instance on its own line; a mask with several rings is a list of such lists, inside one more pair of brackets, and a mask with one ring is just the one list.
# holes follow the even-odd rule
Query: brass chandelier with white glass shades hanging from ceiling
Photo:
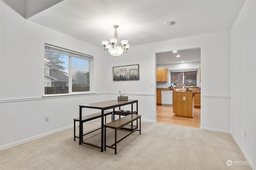
[[130, 47], [130, 45], [128, 45], [127, 40], [122, 40], [121, 44], [123, 45], [123, 47], [118, 46], [118, 33], [116, 29], [119, 27], [119, 25], [113, 25], [113, 27], [115, 28], [114, 38], [109, 40], [112, 45], [108, 45], [108, 41], [101, 41], [101, 44], [103, 45], [104, 50], [107, 49], [108, 53], [115, 57], [118, 57], [122, 55], [124, 51], [127, 53], [127, 50]]

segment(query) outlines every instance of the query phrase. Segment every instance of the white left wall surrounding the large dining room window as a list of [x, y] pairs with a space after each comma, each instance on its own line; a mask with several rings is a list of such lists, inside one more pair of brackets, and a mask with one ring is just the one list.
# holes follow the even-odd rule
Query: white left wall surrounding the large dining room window
[[[79, 115], [79, 104], [107, 100], [107, 86], [102, 86], [107, 62], [103, 49], [25, 20], [3, 1], [0, 5], [1, 148], [68, 127]], [[43, 100], [44, 43], [93, 55], [92, 83], [102, 95]]]

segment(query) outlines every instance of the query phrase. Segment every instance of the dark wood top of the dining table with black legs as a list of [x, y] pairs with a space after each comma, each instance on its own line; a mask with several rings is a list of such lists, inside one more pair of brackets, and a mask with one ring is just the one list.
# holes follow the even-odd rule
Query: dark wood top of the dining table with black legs
[[127, 104], [136, 103], [136, 102], [138, 102], [138, 100], [123, 100], [123, 101], [108, 100], [108, 101], [104, 101], [104, 102], [83, 104], [83, 105], [79, 105], [79, 106], [86, 107], [86, 108], [93, 108], [93, 109], [110, 109], [113, 107], [124, 106]]

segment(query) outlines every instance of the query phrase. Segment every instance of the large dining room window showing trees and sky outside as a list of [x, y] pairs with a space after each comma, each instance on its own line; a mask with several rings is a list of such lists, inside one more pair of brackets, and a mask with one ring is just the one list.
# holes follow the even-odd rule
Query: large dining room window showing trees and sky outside
[[45, 44], [44, 94], [90, 92], [92, 56]]

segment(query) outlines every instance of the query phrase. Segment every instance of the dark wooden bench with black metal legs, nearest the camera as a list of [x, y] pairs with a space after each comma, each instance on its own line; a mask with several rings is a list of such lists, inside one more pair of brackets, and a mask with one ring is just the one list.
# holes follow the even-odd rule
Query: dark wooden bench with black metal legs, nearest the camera
[[[115, 121], [112, 121], [110, 123], [107, 123], [104, 125], [104, 130], [105, 130], [105, 134], [104, 134], [104, 150], [106, 151], [106, 147], [114, 149], [115, 150], [115, 154], [116, 154], [116, 144], [118, 144], [120, 141], [122, 141], [124, 138], [128, 137], [130, 134], [134, 133], [135, 131], [140, 131], [140, 129], [134, 129], [133, 128], [133, 122], [140, 119], [141, 115], [136, 115], [136, 114], [129, 114], [126, 115], [124, 117], [121, 117], [120, 119], [117, 119]], [[122, 139], [120, 139], [119, 141], [117, 141], [117, 130], [121, 129], [122, 127], [124, 127], [125, 125], [128, 125], [129, 123], [131, 123], [131, 132], [126, 135], [125, 137], [123, 137]], [[137, 124], [138, 126], [138, 124]], [[106, 128], [109, 127], [111, 129], [115, 129], [115, 143], [111, 146], [106, 145]], [[141, 126], [140, 126], [141, 127]], [[141, 133], [140, 133], [141, 134]]]

